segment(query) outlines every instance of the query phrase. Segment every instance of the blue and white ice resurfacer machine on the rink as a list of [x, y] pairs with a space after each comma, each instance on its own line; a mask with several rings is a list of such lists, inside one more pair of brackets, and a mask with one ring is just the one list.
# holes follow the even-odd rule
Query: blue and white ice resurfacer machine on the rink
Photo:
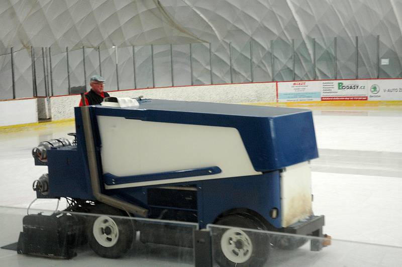
[[[51, 140], [33, 150], [36, 165], [49, 171], [34, 183], [38, 198], [67, 198], [70, 212], [323, 236], [324, 216], [312, 210], [309, 161], [318, 151], [310, 110], [110, 97], [76, 107], [75, 126], [73, 142]], [[138, 231], [143, 242], [192, 247], [185, 236], [191, 232], [176, 243], [168, 237], [172, 228], [88, 217], [26, 216], [19, 252], [69, 258], [76, 243], [87, 240], [100, 256], [115, 258], [130, 249]], [[32, 227], [38, 224], [46, 234], [32, 232], [40, 231]], [[51, 253], [31, 245], [55, 228], [67, 232], [58, 237], [61, 252], [54, 244]], [[270, 247], [294, 249], [308, 241], [232, 235], [223, 230], [215, 237], [222, 266], [260, 266]], [[312, 250], [322, 247], [311, 242]]]

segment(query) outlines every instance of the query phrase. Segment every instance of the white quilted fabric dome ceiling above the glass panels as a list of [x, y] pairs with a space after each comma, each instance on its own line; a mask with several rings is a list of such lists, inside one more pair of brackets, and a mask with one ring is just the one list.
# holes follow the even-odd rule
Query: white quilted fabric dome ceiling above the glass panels
[[0, 49], [366, 35], [392, 45], [400, 14], [401, 0], [4, 0]]

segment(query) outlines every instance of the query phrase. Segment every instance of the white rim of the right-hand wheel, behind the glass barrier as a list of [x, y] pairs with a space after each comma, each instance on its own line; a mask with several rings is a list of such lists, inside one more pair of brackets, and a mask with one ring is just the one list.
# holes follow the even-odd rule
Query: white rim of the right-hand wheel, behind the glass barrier
[[229, 229], [221, 237], [221, 249], [230, 261], [243, 263], [251, 257], [253, 243], [242, 230]]

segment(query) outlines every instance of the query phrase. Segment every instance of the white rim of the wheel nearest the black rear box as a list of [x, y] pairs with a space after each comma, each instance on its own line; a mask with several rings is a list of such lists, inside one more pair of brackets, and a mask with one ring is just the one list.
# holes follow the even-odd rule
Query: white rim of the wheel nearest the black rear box
[[93, 237], [105, 247], [114, 246], [119, 240], [119, 228], [116, 222], [108, 216], [100, 216], [93, 222]]

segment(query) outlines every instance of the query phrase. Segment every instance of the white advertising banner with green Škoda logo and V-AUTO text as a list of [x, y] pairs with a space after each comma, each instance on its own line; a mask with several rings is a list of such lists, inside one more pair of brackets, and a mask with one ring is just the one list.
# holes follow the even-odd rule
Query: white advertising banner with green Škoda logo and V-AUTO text
[[367, 80], [368, 100], [402, 100], [402, 79]]

